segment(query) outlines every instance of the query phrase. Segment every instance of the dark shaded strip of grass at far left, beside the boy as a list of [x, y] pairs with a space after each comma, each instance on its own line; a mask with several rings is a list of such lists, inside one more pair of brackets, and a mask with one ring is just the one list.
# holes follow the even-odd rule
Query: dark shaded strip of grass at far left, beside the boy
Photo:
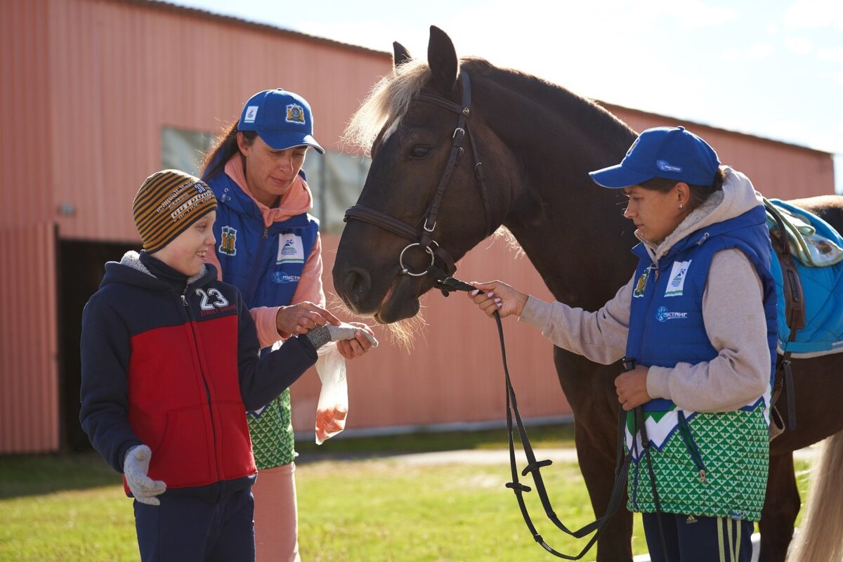
[[95, 452], [0, 456], [0, 500], [122, 484]]

